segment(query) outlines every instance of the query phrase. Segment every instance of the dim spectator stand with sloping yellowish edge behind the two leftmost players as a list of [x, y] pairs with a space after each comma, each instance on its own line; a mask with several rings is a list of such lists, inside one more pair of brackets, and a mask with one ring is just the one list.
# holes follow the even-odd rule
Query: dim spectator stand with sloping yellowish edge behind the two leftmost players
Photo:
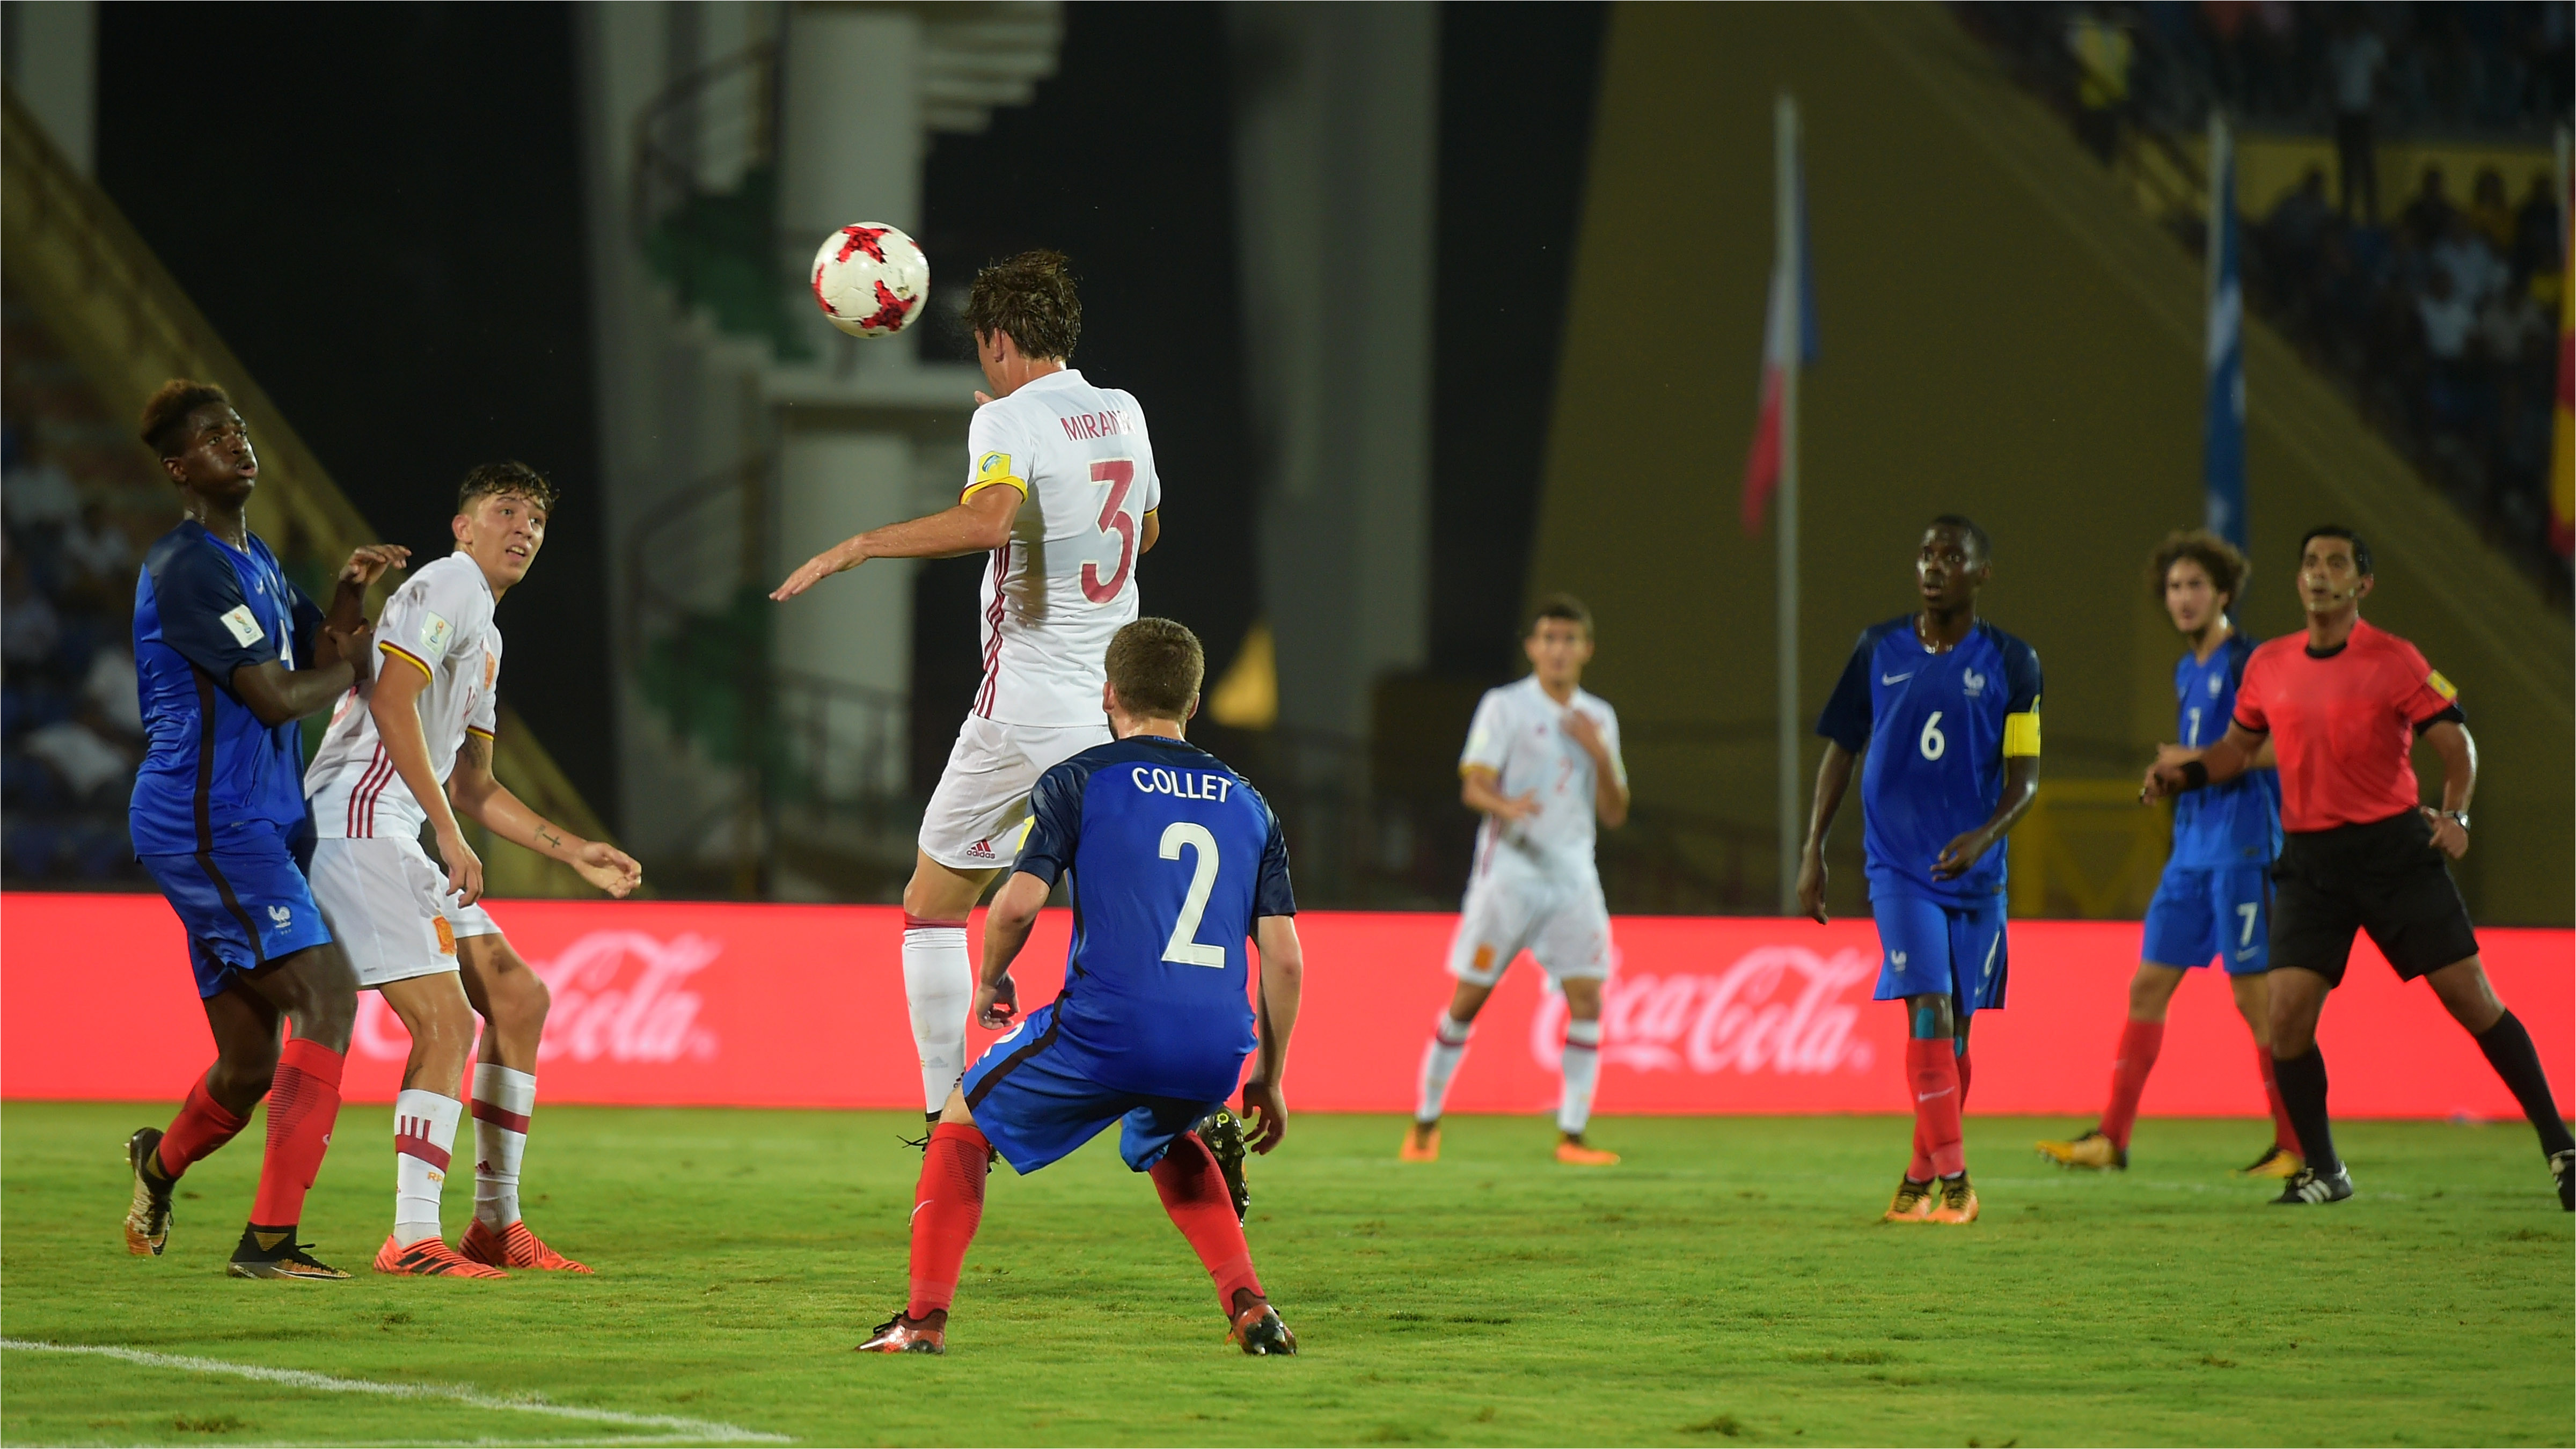
[[[116, 206], [64, 165], [15, 93], [5, 106], [0, 874], [10, 884], [126, 884], [139, 879], [126, 797], [142, 755], [126, 655], [131, 570], [142, 547], [170, 526], [170, 500], [121, 420], [165, 376], [204, 376], [229, 389], [260, 438], [255, 526], [307, 590], [319, 590], [350, 544], [376, 531]], [[381, 593], [368, 611], [376, 606]], [[507, 704], [495, 773], [538, 812], [582, 835], [608, 835]], [[569, 866], [487, 846], [477, 841], [492, 895], [592, 895]]]

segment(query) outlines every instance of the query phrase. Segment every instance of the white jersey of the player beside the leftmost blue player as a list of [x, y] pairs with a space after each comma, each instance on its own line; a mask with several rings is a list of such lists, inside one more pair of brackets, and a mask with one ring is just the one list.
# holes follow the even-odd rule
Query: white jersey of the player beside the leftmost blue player
[[394, 773], [376, 737], [368, 701], [384, 670], [430, 676], [420, 694], [420, 732], [430, 745], [430, 771], [446, 784], [466, 732], [492, 737], [500, 683], [500, 629], [492, 624], [492, 585], [466, 554], [448, 554], [415, 572], [376, 621], [376, 657], [330, 717], [330, 732], [304, 771], [304, 799], [322, 838], [417, 838], [428, 822], [420, 802]]

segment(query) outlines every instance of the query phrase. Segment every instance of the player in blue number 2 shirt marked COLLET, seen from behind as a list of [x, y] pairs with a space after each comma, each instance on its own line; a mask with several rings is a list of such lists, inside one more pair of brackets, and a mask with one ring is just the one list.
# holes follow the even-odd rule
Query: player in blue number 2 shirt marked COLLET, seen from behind
[[[1226, 1338], [1252, 1356], [1296, 1354], [1252, 1271], [1226, 1176], [1190, 1132], [1226, 1106], [1257, 1052], [1244, 1142], [1255, 1152], [1280, 1145], [1280, 1075], [1306, 975], [1278, 817], [1224, 761], [1182, 740], [1203, 673], [1198, 637], [1180, 624], [1118, 629], [1100, 691], [1113, 740], [1038, 776], [1020, 861], [984, 913], [974, 1013], [992, 1031], [1018, 1016], [1010, 962], [1048, 890], [1072, 874], [1064, 993], [948, 1093], [912, 1204], [912, 1297], [863, 1354], [948, 1351], [948, 1305], [984, 1222], [994, 1152], [1036, 1173], [1110, 1124], [1121, 1124], [1118, 1155], [1154, 1176], [1216, 1281]], [[1260, 946], [1260, 1011], [1247, 938]]]

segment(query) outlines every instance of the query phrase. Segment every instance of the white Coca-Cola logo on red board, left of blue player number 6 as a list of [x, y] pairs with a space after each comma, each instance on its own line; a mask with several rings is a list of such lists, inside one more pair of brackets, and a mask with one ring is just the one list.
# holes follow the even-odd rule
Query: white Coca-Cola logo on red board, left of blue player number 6
[[[1878, 1052], [1860, 1039], [1855, 985], [1878, 977], [1865, 951], [1816, 954], [1757, 946], [1716, 975], [1613, 977], [1602, 987], [1602, 1060], [1636, 1073], [1865, 1073]], [[1566, 998], [1530, 1016], [1530, 1057], [1556, 1070]]]

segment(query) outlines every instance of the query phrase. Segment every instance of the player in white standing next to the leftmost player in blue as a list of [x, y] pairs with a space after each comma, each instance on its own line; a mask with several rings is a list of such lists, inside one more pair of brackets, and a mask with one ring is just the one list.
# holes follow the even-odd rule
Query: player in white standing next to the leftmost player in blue
[[[644, 871], [605, 841], [551, 825], [492, 779], [500, 727], [500, 627], [492, 611], [546, 547], [554, 485], [528, 464], [482, 464], [456, 490], [456, 552], [425, 565], [376, 624], [374, 670], [340, 701], [304, 773], [317, 841], [314, 900], [348, 941], [358, 985], [412, 1034], [394, 1098], [394, 1230], [379, 1274], [502, 1279], [502, 1269], [590, 1269], [546, 1248], [518, 1214], [518, 1168], [536, 1111], [536, 1047], [546, 1034], [546, 982], [510, 949], [482, 908], [482, 859], [464, 815], [541, 856], [564, 861], [608, 895]], [[438, 835], [440, 871], [420, 848]], [[456, 1147], [474, 1052], [474, 1225], [448, 1248], [438, 1199]]]

